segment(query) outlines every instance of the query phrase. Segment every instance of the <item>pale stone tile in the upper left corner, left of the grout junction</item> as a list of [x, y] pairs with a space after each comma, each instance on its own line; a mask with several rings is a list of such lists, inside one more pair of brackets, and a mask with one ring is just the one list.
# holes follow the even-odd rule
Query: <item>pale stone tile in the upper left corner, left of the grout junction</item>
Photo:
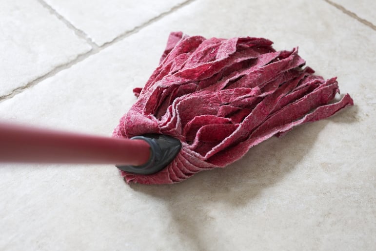
[[2, 0], [0, 17], [0, 96], [91, 49], [38, 1]]

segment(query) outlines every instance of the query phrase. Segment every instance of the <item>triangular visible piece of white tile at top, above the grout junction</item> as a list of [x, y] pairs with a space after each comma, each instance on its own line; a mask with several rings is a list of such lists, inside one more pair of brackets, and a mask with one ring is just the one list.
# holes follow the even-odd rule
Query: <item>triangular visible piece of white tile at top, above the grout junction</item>
[[186, 0], [45, 0], [99, 46]]

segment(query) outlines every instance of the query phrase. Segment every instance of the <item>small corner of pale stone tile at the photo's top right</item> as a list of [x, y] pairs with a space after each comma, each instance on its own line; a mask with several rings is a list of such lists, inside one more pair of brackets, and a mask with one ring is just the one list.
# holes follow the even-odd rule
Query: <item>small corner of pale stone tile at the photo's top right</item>
[[345, 9], [355, 13], [359, 18], [365, 19], [376, 25], [376, 2], [368, 0], [333, 0]]

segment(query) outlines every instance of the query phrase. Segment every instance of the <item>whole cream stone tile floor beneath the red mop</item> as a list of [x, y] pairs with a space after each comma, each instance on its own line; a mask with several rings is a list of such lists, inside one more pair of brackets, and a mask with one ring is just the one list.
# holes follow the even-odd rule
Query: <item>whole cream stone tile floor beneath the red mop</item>
[[299, 46], [355, 106], [176, 185], [111, 165], [0, 165], [0, 250], [376, 248], [371, 0], [2, 0], [0, 118], [110, 135], [170, 31]]

